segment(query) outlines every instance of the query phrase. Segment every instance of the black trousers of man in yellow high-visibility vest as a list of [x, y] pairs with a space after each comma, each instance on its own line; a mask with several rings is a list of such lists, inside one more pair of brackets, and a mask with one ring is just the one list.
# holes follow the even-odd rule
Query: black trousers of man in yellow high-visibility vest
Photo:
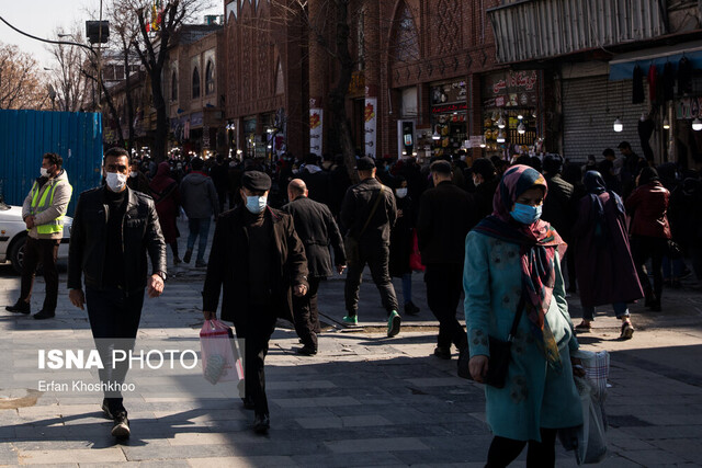
[[42, 310], [54, 312], [56, 310], [56, 298], [58, 297], [58, 271], [56, 270], [56, 256], [60, 239], [34, 239], [26, 238], [24, 244], [24, 262], [22, 264], [22, 286], [20, 300], [26, 303], [32, 297], [34, 287], [34, 275], [36, 267], [42, 263], [44, 269], [44, 281], [46, 282], [46, 296]]

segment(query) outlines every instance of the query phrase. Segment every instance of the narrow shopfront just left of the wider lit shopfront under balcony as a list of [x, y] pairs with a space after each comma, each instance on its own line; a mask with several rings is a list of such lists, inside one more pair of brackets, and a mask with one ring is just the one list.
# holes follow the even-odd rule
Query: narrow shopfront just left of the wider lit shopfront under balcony
[[431, 85], [429, 99], [433, 156], [453, 155], [465, 148], [468, 139], [465, 80]]

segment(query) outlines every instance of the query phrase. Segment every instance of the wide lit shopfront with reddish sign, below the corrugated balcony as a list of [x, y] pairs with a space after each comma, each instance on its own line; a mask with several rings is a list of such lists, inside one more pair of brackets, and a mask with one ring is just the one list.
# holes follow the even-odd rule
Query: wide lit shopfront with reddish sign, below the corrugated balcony
[[483, 80], [483, 137], [490, 156], [536, 155], [544, 150], [540, 125], [540, 83], [536, 70], [500, 71]]

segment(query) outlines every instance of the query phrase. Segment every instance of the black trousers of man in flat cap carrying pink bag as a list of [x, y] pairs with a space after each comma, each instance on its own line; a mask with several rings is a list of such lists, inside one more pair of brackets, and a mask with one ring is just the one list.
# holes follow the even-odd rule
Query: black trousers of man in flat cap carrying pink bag
[[274, 330], [275, 310], [271, 306], [249, 305], [247, 322], [236, 326], [237, 338], [244, 339], [246, 397], [253, 400], [256, 414], [269, 413], [263, 364]]

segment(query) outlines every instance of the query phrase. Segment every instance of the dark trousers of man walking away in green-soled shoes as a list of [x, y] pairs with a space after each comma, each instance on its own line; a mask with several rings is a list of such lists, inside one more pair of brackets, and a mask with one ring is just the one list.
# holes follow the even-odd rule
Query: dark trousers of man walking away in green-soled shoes
[[393, 310], [398, 310], [395, 287], [388, 272], [389, 256], [390, 249], [388, 246], [370, 247], [361, 244], [359, 247], [359, 261], [348, 260], [349, 270], [347, 271], [343, 296], [349, 316], [355, 316], [359, 309], [359, 288], [361, 287], [361, 277], [366, 263], [371, 269], [373, 283], [375, 283], [377, 290], [381, 293], [381, 300], [385, 310], [388, 313]]

